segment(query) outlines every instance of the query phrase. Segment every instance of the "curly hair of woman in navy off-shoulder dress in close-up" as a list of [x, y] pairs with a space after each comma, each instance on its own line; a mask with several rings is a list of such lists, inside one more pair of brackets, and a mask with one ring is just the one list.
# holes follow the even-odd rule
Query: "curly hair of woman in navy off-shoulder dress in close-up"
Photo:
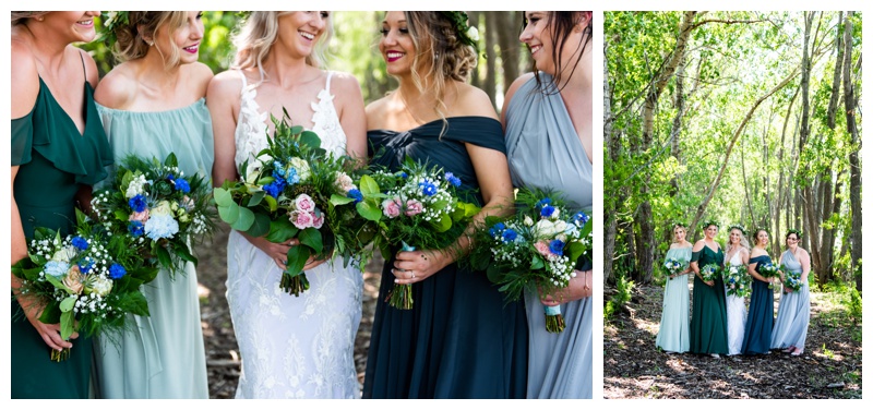
[[441, 12], [403, 13], [416, 47], [412, 82], [419, 92], [433, 92], [436, 113], [445, 121], [445, 84], [449, 80], [466, 82], [478, 63], [478, 56], [464, 43], [455, 23]]

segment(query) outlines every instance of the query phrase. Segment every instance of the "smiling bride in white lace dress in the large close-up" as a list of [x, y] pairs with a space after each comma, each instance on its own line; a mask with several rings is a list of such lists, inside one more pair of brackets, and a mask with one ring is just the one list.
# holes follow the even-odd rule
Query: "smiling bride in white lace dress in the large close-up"
[[[286, 109], [335, 154], [367, 154], [363, 99], [348, 74], [319, 69], [331, 36], [326, 11], [253, 11], [239, 35], [232, 69], [210, 83], [216, 186], [266, 147], [270, 114]], [[272, 131], [272, 130], [271, 130]], [[352, 358], [361, 318], [362, 275], [342, 260], [308, 261], [310, 289], [279, 289], [290, 246], [231, 231], [227, 301], [242, 357], [237, 398], [359, 398]]]

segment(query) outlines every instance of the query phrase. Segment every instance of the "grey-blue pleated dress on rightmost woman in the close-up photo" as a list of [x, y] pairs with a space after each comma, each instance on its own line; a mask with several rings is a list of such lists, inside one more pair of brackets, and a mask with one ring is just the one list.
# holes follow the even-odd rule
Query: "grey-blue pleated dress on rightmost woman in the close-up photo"
[[[540, 77], [543, 84], [552, 80], [545, 73]], [[536, 87], [530, 79], [506, 108], [506, 158], [513, 185], [559, 191], [572, 207], [590, 213], [591, 162], [561, 95], [545, 95]], [[536, 291], [525, 294], [525, 303], [530, 343], [527, 398], [591, 398], [591, 298], [561, 304], [566, 328], [559, 334], [546, 330]]]

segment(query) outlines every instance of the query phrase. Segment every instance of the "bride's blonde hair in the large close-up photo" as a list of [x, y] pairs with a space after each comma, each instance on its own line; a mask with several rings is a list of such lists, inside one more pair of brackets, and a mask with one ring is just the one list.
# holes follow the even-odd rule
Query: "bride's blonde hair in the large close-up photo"
[[[243, 21], [242, 26], [232, 37], [237, 55], [232, 69], [258, 68], [263, 72], [264, 59], [270, 55], [270, 49], [276, 43], [279, 34], [279, 17], [294, 13], [292, 11], [253, 11]], [[312, 53], [307, 56], [306, 63], [314, 68], [322, 68], [325, 63], [327, 44], [333, 35], [333, 20], [328, 16], [324, 34], [319, 38]]]

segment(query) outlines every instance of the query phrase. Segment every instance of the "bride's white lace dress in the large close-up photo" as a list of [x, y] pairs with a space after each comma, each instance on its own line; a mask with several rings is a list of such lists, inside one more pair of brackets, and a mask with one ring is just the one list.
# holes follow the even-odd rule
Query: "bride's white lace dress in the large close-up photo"
[[[240, 75], [242, 76], [242, 75]], [[242, 76], [236, 129], [237, 167], [266, 147], [267, 112], [258, 88]], [[346, 135], [325, 87], [311, 107], [322, 147], [344, 154]], [[227, 302], [242, 372], [237, 398], [359, 398], [355, 335], [361, 318], [363, 278], [342, 258], [307, 270], [310, 289], [295, 297], [279, 289], [282, 270], [237, 231], [227, 243]]]

